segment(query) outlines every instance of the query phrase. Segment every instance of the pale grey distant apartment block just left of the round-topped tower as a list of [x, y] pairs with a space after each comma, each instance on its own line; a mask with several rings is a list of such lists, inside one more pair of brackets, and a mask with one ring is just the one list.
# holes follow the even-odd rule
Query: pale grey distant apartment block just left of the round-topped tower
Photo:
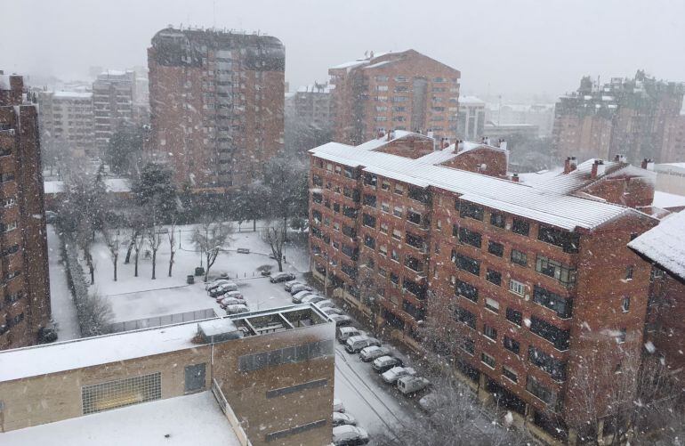
[[107, 70], [93, 82], [93, 115], [95, 120], [95, 144], [105, 150], [109, 139], [126, 121], [133, 121], [133, 97], [135, 96], [135, 73], [133, 71]]

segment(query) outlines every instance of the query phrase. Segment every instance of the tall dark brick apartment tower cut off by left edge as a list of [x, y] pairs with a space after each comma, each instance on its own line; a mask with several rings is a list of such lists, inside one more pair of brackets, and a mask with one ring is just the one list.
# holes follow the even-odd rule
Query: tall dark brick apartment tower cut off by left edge
[[36, 107], [0, 71], [0, 349], [34, 345], [50, 320]]

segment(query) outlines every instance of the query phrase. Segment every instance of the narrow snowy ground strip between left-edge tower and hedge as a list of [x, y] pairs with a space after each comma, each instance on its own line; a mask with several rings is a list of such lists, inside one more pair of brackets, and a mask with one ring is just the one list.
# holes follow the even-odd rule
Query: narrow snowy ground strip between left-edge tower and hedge
[[50, 268], [50, 305], [60, 341], [81, 337], [77, 307], [67, 282], [67, 268], [61, 262], [60, 237], [52, 224], [47, 225], [48, 265]]

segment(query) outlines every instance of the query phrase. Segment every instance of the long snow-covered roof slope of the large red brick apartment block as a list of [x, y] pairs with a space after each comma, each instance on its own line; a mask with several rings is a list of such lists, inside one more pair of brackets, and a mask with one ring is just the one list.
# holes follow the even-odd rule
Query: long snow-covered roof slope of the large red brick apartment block
[[620, 215], [637, 212], [628, 207], [563, 195], [485, 174], [433, 166], [418, 159], [376, 150], [360, 150], [338, 142], [328, 142], [310, 152], [318, 158], [345, 166], [361, 166], [365, 172], [419, 187], [431, 185], [454, 191], [462, 194], [462, 199], [569, 231], [577, 227], [592, 229]]

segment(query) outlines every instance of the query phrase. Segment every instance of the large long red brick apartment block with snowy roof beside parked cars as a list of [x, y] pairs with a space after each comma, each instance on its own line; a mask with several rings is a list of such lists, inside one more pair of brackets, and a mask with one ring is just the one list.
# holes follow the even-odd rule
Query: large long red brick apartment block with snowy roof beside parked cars
[[521, 423], [576, 442], [587, 361], [641, 353], [650, 266], [626, 244], [657, 224], [630, 207], [649, 206], [653, 174], [569, 158], [533, 187], [506, 177], [503, 142], [430, 146], [395, 132], [310, 150], [314, 275]]

